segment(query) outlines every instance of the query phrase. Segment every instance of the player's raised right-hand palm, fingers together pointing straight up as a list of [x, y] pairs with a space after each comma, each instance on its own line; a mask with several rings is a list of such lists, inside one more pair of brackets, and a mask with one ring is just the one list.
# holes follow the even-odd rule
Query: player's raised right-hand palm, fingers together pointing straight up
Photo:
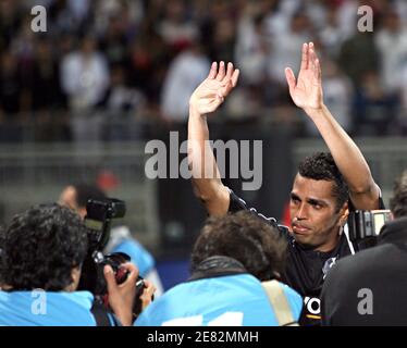
[[296, 80], [293, 70], [285, 69], [289, 95], [294, 103], [305, 111], [318, 110], [323, 105], [321, 65], [313, 44], [303, 45], [301, 67]]

